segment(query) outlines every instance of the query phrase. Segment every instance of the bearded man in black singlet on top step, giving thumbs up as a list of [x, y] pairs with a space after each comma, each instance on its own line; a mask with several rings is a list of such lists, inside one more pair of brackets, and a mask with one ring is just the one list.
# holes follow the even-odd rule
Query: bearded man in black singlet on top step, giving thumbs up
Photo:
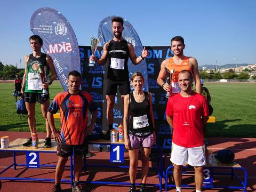
[[93, 59], [98, 65], [105, 65], [108, 60], [106, 99], [109, 130], [106, 135], [107, 139], [110, 138], [110, 129], [113, 129], [113, 108], [115, 105], [117, 87], [122, 100], [124, 100], [125, 95], [130, 93], [129, 71], [127, 66], [129, 57], [134, 65], [138, 65], [149, 55], [149, 52], [144, 47], [141, 55], [139, 57], [136, 56], [133, 45], [125, 41], [122, 36], [122, 31], [124, 30], [123, 24], [124, 20], [121, 17], [114, 17], [112, 19], [114, 38], [104, 45], [103, 54], [99, 60], [94, 55], [90, 57], [90, 60]]

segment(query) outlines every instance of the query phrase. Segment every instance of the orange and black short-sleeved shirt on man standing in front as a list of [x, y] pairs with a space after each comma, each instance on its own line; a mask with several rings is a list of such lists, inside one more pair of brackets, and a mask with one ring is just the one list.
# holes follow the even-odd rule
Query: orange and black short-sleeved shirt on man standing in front
[[68, 91], [55, 96], [48, 111], [55, 114], [60, 109], [60, 133], [62, 143], [81, 145], [84, 142], [84, 132], [87, 127], [87, 110], [95, 111], [92, 96], [85, 91], [70, 94]]

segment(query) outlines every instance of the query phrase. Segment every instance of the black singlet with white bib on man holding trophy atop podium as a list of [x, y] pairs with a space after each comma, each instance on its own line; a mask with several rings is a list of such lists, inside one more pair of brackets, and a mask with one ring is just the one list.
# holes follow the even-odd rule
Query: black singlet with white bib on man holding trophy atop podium
[[124, 39], [116, 42], [113, 39], [108, 45], [108, 79], [113, 81], [125, 81], [129, 79], [128, 62], [129, 48]]

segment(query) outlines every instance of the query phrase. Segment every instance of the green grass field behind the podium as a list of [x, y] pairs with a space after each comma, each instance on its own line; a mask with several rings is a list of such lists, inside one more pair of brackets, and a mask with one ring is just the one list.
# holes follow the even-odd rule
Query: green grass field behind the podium
[[[256, 84], [255, 83], [205, 83], [212, 96], [213, 116], [216, 123], [207, 125], [209, 137], [256, 138]], [[60, 83], [50, 86], [51, 99], [62, 91]], [[12, 97], [13, 84], [0, 84], [0, 131], [29, 131], [26, 118], [15, 111]], [[45, 132], [45, 122], [40, 105], [36, 105], [38, 132]], [[56, 121], [59, 127], [59, 121]]]

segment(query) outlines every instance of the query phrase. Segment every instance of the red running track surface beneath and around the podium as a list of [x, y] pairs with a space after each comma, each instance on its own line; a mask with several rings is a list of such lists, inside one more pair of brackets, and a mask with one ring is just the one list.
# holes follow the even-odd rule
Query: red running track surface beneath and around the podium
[[[8, 135], [10, 141], [13, 141], [17, 138], [27, 138], [29, 137], [29, 133], [27, 132], [0, 132], [0, 137]], [[45, 137], [45, 133], [38, 133], [38, 137], [43, 139]], [[256, 139], [255, 138], [209, 138], [209, 149], [212, 151], [218, 151], [220, 149], [229, 148], [235, 153], [236, 161], [243, 167], [246, 168], [248, 172], [248, 187], [247, 191], [256, 191]], [[40, 155], [40, 163], [49, 163], [56, 164], [57, 156], [55, 154], [41, 154]], [[12, 154], [4, 153], [1, 151], [0, 155], [0, 170], [3, 170], [5, 166], [10, 165], [12, 162]], [[24, 154], [19, 153], [17, 155], [17, 163], [26, 163], [26, 156]], [[95, 152], [95, 156], [88, 158], [87, 163], [90, 164], [109, 164], [109, 153], [108, 152]], [[125, 164], [129, 164], [129, 158], [127, 153], [125, 154]], [[68, 165], [68, 163], [67, 163]], [[151, 165], [151, 163], [150, 163]], [[169, 159], [166, 159], [166, 167], [170, 165]], [[114, 172], [112, 172], [114, 171]], [[240, 174], [240, 173], [238, 173]], [[3, 174], [1, 177], [36, 177], [36, 178], [47, 178], [54, 179], [55, 170], [54, 169], [25, 169], [23, 167], [18, 167], [17, 170], [9, 169]], [[70, 172], [67, 169], [62, 179], [69, 179]], [[140, 171], [138, 171], [137, 178], [140, 177]], [[215, 177], [214, 177], [215, 178]], [[89, 168], [88, 171], [82, 173], [81, 180], [105, 180], [106, 181], [120, 181], [120, 182], [129, 182], [129, 173], [127, 169], [119, 169], [119, 170], [109, 170], [109, 169], [95, 169]], [[237, 181], [231, 181], [229, 177], [223, 176], [218, 177], [218, 181], [216, 183], [220, 183], [221, 185], [237, 185]], [[140, 183], [138, 179], [137, 182]], [[147, 182], [157, 183], [158, 178], [156, 177], [155, 172], [150, 171]], [[193, 177], [183, 177], [182, 183], [192, 184], [193, 185]], [[164, 184], [164, 180], [163, 180]], [[51, 191], [53, 183], [50, 182], [34, 182], [34, 181], [9, 181], [2, 180], [2, 191], [18, 191], [18, 192], [29, 192], [29, 191]], [[70, 185], [62, 183], [61, 185], [63, 191], [71, 191]], [[110, 185], [95, 185], [95, 184], [86, 184], [83, 185], [83, 188], [86, 191], [128, 191], [128, 186], [110, 186]], [[139, 187], [137, 188], [139, 191]], [[148, 187], [148, 191], [159, 191], [156, 187]], [[163, 185], [164, 191], [164, 185]], [[175, 191], [174, 188], [169, 188], [169, 191]], [[182, 189], [182, 191], [195, 191], [195, 189]], [[228, 189], [204, 189], [203, 191], [241, 191], [241, 190], [228, 190]]]

